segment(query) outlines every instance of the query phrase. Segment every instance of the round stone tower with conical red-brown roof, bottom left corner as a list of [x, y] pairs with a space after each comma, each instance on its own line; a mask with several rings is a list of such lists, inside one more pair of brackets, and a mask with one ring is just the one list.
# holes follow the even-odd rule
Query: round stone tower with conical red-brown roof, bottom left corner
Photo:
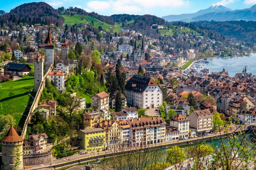
[[13, 126], [7, 135], [1, 140], [2, 163], [4, 170], [23, 169], [23, 138], [21, 138]]

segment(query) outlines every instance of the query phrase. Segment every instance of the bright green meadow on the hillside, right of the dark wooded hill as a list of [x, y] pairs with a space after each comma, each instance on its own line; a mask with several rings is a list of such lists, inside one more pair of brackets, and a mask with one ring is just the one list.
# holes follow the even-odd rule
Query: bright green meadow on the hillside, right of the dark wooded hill
[[121, 27], [122, 24], [116, 24], [115, 26], [112, 26], [108, 23], [103, 23], [101, 22], [100, 20], [94, 18], [94, 17], [91, 17], [91, 16], [85, 16], [85, 20], [84, 19], [81, 19], [81, 15], [61, 15], [64, 19], [65, 19], [65, 22], [64, 22], [64, 25], [68, 24], [68, 25], [74, 25], [75, 23], [79, 24], [79, 23], [83, 23], [83, 24], [87, 24], [87, 23], [91, 23], [91, 21], [93, 21], [94, 23], [94, 27], [95, 28], [99, 28], [99, 26], [102, 26], [102, 29], [103, 30], [106, 30], [106, 31], [110, 31], [110, 29], [112, 28], [113, 29], [113, 32], [119, 32], [121, 31], [123, 28]]

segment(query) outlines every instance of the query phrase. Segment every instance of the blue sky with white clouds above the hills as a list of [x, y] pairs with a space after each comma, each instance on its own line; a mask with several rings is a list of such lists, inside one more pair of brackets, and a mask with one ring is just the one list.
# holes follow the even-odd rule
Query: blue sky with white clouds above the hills
[[212, 5], [224, 5], [232, 10], [249, 8], [256, 0], [2, 0], [0, 10], [10, 12], [16, 6], [29, 2], [46, 2], [55, 9], [58, 7], [80, 7], [87, 12], [94, 11], [100, 15], [134, 14], [134, 15], [177, 15], [195, 13]]

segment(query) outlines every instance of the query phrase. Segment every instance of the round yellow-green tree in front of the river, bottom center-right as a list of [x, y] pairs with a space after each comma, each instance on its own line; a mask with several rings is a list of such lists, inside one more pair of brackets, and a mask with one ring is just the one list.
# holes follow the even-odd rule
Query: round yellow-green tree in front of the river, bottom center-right
[[167, 162], [172, 165], [181, 163], [185, 160], [185, 152], [178, 146], [173, 146], [168, 149]]

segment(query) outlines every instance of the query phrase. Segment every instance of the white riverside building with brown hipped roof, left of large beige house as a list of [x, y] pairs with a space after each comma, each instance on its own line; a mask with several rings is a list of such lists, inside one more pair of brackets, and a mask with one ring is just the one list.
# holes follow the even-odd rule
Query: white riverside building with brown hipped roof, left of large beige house
[[170, 126], [178, 128], [178, 131], [180, 131], [180, 137], [188, 137], [189, 121], [190, 119], [186, 116], [179, 114], [170, 119]]

